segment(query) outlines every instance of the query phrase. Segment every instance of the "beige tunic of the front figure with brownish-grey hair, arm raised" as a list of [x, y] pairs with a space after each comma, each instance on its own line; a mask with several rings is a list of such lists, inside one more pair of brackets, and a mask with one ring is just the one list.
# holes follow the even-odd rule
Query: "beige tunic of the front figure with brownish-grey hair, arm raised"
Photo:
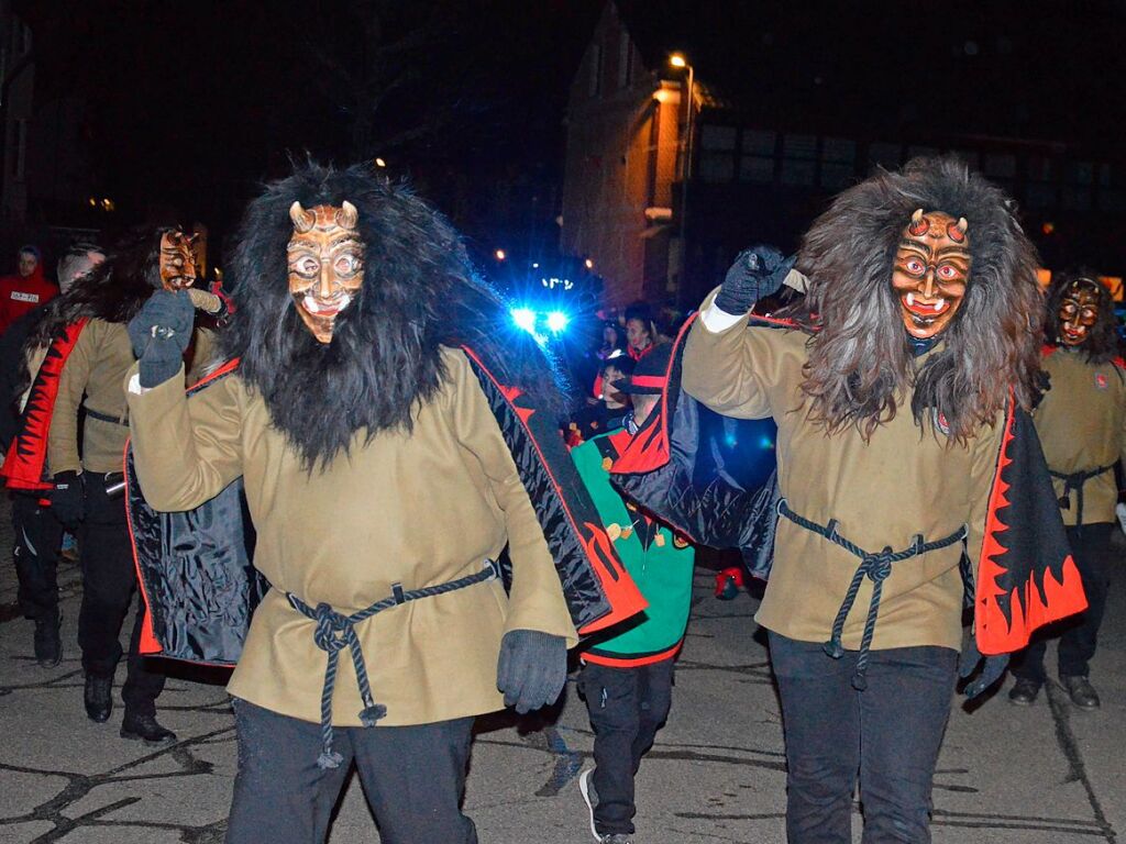
[[[706, 308], [711, 297], [705, 302]], [[748, 327], [747, 318], [713, 333], [697, 320], [683, 357], [683, 388], [729, 416], [778, 424], [778, 484], [789, 506], [820, 524], [839, 522], [840, 535], [861, 548], [895, 551], [917, 533], [942, 539], [968, 526], [976, 566], [989, 493], [1001, 443], [1003, 414], [968, 448], [948, 446], [928, 421], [920, 428], [903, 397], [895, 417], [865, 442], [855, 427], [828, 436], [803, 407], [799, 385], [808, 336], [776, 327]], [[960, 649], [962, 545], [892, 565], [872, 647], [938, 645]], [[763, 627], [803, 641], [825, 641], [860, 560], [788, 519], [778, 520], [775, 563], [756, 616]], [[842, 636], [857, 649], [872, 581], [865, 578]]]

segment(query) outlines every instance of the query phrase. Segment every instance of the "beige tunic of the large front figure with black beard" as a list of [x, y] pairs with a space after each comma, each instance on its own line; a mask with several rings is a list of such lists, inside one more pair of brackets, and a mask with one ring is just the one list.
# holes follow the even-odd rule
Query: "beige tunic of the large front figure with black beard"
[[[327, 655], [292, 591], [338, 612], [481, 571], [506, 542], [511, 596], [497, 581], [386, 610], [357, 625], [384, 726], [500, 709], [504, 632], [543, 630], [578, 644], [543, 531], [468, 360], [444, 349], [448, 378], [413, 433], [379, 433], [307, 474], [261, 397], [229, 376], [185, 399], [168, 381], [129, 394], [137, 477], [157, 510], [186, 510], [240, 475], [258, 531], [254, 565], [272, 589], [254, 613], [230, 691], [306, 721], [320, 719]], [[334, 413], [331, 407], [325, 413]], [[341, 653], [332, 722], [359, 726], [355, 668]]]

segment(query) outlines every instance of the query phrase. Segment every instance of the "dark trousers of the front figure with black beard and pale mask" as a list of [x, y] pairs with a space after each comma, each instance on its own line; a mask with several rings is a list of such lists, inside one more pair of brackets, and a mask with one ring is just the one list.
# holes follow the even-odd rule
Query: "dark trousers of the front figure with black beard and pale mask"
[[461, 810], [473, 719], [337, 727], [340, 767], [321, 770], [321, 726], [234, 702], [239, 772], [226, 844], [320, 844], [352, 760], [383, 844], [476, 844]]

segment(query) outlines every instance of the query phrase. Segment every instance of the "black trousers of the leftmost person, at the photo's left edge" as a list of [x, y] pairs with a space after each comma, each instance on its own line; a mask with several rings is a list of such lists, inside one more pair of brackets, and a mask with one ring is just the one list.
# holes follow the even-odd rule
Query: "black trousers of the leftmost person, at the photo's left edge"
[[63, 526], [39, 496], [11, 494], [12, 558], [19, 581], [19, 609], [24, 618], [51, 618], [59, 612], [59, 549]]

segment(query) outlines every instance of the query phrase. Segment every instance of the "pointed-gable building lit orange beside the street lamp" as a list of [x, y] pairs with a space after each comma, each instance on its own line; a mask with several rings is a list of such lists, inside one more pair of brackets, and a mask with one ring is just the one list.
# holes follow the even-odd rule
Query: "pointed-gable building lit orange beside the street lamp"
[[595, 262], [607, 306], [664, 290], [671, 221], [646, 209], [672, 208], [679, 104], [607, 3], [571, 86], [561, 233], [563, 252]]

